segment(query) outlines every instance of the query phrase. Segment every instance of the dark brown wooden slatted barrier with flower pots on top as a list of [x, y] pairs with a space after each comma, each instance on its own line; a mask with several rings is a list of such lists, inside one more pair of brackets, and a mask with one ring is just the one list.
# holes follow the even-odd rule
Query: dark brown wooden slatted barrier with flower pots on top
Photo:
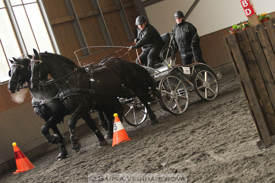
[[260, 140], [275, 142], [275, 19], [224, 37]]

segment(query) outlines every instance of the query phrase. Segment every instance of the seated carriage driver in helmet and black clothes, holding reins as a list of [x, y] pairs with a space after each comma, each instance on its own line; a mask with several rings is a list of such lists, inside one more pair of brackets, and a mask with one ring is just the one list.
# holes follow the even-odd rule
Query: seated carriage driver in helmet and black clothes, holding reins
[[140, 62], [144, 66], [155, 68], [155, 61], [158, 59], [160, 51], [163, 47], [163, 41], [158, 33], [157, 29], [147, 23], [146, 18], [141, 15], [135, 20], [137, 25], [137, 43], [130, 47], [131, 49], [137, 49], [142, 47], [142, 53], [139, 55], [140, 61], [137, 58], [136, 63], [140, 65]]

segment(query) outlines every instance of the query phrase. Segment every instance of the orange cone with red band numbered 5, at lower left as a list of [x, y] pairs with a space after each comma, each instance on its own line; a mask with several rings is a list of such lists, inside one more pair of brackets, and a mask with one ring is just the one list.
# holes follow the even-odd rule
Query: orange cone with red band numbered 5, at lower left
[[15, 156], [15, 162], [17, 166], [17, 170], [13, 174], [33, 169], [35, 166], [30, 162], [30, 160], [25, 156], [25, 154], [16, 146], [16, 142], [13, 142], [12, 145]]

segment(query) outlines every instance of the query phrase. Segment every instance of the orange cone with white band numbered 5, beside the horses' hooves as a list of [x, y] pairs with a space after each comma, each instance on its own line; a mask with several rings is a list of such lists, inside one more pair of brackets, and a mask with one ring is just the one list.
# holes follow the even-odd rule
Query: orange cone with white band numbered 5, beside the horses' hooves
[[121, 121], [119, 120], [117, 113], [114, 114], [115, 122], [114, 122], [114, 133], [113, 133], [113, 146], [119, 144], [120, 142], [126, 142], [128, 140], [131, 140], [131, 138], [128, 137], [125, 129], [123, 128]]

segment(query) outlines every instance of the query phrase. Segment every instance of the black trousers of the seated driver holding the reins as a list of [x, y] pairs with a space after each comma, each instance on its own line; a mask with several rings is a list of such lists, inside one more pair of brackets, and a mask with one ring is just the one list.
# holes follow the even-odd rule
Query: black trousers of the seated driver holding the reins
[[162, 48], [158, 47], [152, 47], [149, 52], [142, 51], [142, 53], [139, 55], [140, 61], [138, 58], [135, 60], [135, 62], [140, 65], [140, 62], [143, 66], [155, 68], [155, 61], [158, 59], [158, 56], [160, 55], [160, 51]]

